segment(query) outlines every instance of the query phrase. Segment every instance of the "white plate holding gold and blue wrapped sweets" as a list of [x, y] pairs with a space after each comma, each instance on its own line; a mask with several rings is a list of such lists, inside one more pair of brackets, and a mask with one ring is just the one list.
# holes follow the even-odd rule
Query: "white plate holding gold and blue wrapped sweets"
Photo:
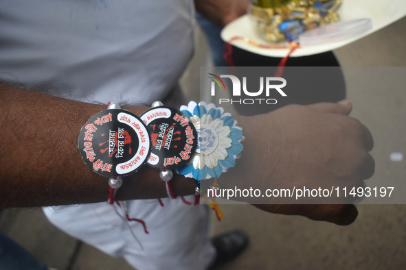
[[[368, 36], [373, 32], [390, 25], [394, 21], [401, 19], [406, 15], [406, 1], [405, 0], [343, 0], [343, 3], [338, 11], [342, 21], [348, 21], [352, 19], [370, 18], [372, 20], [372, 29], [368, 32], [360, 34], [359, 36], [348, 38], [337, 42], [328, 42], [319, 45], [307, 45], [296, 49], [291, 57], [297, 56], [311, 56], [317, 53], [324, 53], [325, 51], [331, 51], [339, 47], [343, 47], [351, 42], [359, 40], [364, 36]], [[399, 33], [402, 35], [403, 33]], [[243, 36], [250, 38], [256, 42], [262, 44], [271, 44], [266, 40], [262, 40], [258, 34], [256, 34], [251, 19], [248, 15], [241, 16], [240, 18], [232, 21], [223, 28], [221, 32], [221, 38], [227, 41], [234, 36]], [[251, 51], [262, 56], [272, 57], [284, 57], [288, 53], [289, 49], [264, 49], [258, 48], [253, 45], [249, 45], [243, 40], [236, 40], [232, 43], [240, 49]]]

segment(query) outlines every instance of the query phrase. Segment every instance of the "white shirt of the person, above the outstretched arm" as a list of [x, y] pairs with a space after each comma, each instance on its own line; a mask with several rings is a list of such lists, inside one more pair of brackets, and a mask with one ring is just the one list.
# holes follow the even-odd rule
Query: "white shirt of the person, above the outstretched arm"
[[13, 0], [0, 8], [0, 77], [89, 101], [151, 103], [193, 53], [190, 0]]

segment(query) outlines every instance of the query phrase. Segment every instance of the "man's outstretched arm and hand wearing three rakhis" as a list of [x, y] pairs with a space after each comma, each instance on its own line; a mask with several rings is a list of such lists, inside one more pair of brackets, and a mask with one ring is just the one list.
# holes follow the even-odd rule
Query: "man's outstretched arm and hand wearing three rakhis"
[[[107, 177], [87, 167], [78, 151], [80, 128], [105, 106], [61, 99], [10, 86], [0, 87], [0, 207], [32, 207], [106, 201]], [[349, 101], [285, 106], [269, 114], [236, 117], [245, 130], [243, 158], [221, 177], [221, 188], [363, 186], [374, 173], [370, 131], [348, 116]], [[127, 108], [139, 115], [146, 108]], [[263, 131], [264, 133], [258, 132]], [[124, 180], [116, 199], [166, 197], [159, 171], [142, 167]], [[196, 182], [176, 175], [177, 195], [192, 194]], [[346, 225], [357, 217], [348, 198], [335, 205], [275, 205], [262, 210], [302, 214]], [[247, 202], [258, 202], [247, 198]], [[278, 202], [279, 203], [279, 202]]]

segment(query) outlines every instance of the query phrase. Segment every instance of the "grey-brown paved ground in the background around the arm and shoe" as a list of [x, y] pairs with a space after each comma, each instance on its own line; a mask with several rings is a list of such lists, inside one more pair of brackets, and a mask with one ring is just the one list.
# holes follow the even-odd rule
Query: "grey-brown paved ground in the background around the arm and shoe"
[[[335, 51], [342, 66], [405, 66], [406, 19]], [[183, 78], [183, 85], [199, 82], [199, 66], [207, 65], [201, 36], [198, 53]], [[405, 73], [403, 73], [405, 74]], [[403, 181], [405, 160], [392, 162], [392, 152], [406, 154], [406, 87], [365, 88], [357, 73], [346, 73], [352, 115], [370, 127], [376, 173], [368, 183]], [[225, 219], [214, 223], [214, 234], [243, 228], [251, 245], [227, 269], [406, 269], [406, 206], [361, 205], [355, 223], [339, 227], [303, 217], [264, 214], [251, 206], [223, 206]], [[1, 213], [0, 231], [21, 243], [50, 267], [68, 269], [131, 269], [122, 259], [58, 231], [41, 210]]]

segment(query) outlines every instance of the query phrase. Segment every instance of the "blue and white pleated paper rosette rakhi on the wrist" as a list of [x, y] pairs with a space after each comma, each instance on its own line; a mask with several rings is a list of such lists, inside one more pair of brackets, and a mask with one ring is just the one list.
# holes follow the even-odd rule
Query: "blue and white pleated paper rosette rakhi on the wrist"
[[218, 178], [229, 168], [234, 167], [236, 159], [243, 151], [243, 129], [237, 121], [223, 108], [213, 103], [190, 101], [188, 106], [181, 106], [198, 134], [198, 145], [190, 164], [178, 168], [177, 173], [193, 177], [197, 181]]

